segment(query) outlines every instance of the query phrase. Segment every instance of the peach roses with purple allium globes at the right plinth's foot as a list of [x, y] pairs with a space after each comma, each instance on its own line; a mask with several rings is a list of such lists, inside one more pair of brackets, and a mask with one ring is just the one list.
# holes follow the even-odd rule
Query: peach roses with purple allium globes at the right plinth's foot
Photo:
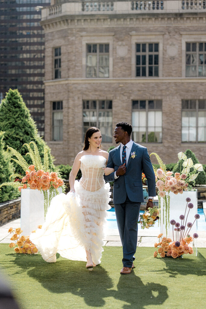
[[[167, 238], [167, 237], [162, 238], [163, 234], [159, 234], [158, 235], [159, 242], [154, 244], [154, 247], [158, 248], [158, 250], [155, 251], [153, 254], [154, 257], [157, 257], [158, 255], [160, 255], [161, 257], [172, 256], [174, 259], [176, 259], [179, 256], [183, 256], [183, 254], [194, 253], [193, 248], [190, 247], [189, 244], [193, 242], [193, 238], [198, 238], [198, 234], [194, 233], [193, 238], [192, 238], [189, 235], [189, 232], [193, 224], [195, 223], [195, 221], [200, 218], [200, 215], [195, 214], [194, 222], [187, 223], [187, 217], [188, 217], [190, 209], [193, 208], [193, 204], [189, 203], [191, 201], [189, 197], [186, 198], [186, 201], [187, 201], [187, 205], [186, 205], [185, 213], [184, 215], [181, 214], [179, 216], [181, 223], [176, 222], [174, 219], [170, 221], [172, 228], [175, 226], [175, 228], [172, 229], [173, 241], [171, 238]], [[188, 210], [187, 217], [186, 217], [187, 208], [189, 208], [189, 210]], [[186, 226], [186, 223], [187, 223], [187, 226]]]

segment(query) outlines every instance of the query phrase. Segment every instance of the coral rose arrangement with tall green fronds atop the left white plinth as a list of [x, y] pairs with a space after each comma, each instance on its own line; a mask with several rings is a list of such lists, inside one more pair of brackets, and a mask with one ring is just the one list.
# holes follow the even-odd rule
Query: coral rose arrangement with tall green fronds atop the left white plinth
[[[32, 150], [31, 145], [33, 145], [34, 150]], [[44, 147], [44, 163], [41, 162], [39, 150], [35, 142], [25, 143], [23, 146], [27, 146], [28, 152], [26, 156], [29, 155], [32, 159], [32, 165], [28, 165], [23, 156], [14, 148], [7, 146], [7, 151], [11, 151], [12, 155], [15, 155], [16, 159], [11, 158], [16, 163], [18, 163], [25, 171], [25, 176], [20, 174], [13, 174], [10, 176], [15, 179], [21, 179], [21, 185], [19, 186], [19, 181], [5, 182], [0, 185], [0, 188], [5, 185], [12, 185], [21, 189], [38, 189], [44, 194], [44, 217], [46, 216], [48, 206], [51, 203], [52, 198], [59, 194], [57, 188], [64, 184], [64, 181], [58, 177], [56, 172], [50, 172], [49, 169], [49, 159], [48, 159], [48, 147]], [[49, 193], [48, 193], [48, 191]]]

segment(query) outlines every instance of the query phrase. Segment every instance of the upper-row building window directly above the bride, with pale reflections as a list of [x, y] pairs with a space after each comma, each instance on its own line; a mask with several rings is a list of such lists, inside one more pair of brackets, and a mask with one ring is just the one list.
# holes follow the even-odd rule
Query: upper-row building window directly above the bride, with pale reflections
[[109, 44], [86, 44], [86, 77], [109, 77]]

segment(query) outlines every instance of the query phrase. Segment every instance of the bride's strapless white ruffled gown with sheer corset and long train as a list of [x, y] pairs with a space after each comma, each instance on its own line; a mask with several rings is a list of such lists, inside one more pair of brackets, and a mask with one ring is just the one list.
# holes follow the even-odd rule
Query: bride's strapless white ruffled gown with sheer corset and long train
[[69, 260], [86, 261], [85, 249], [95, 264], [101, 261], [103, 225], [111, 207], [110, 186], [103, 179], [106, 159], [83, 155], [82, 178], [75, 181], [75, 193], [61, 193], [53, 198], [42, 229], [30, 235], [43, 259], [56, 262], [56, 253]]

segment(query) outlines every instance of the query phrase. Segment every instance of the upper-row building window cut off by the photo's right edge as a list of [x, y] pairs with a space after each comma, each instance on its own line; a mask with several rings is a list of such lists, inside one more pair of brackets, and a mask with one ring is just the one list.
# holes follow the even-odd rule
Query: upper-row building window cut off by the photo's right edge
[[186, 42], [186, 77], [206, 76], [206, 43]]

